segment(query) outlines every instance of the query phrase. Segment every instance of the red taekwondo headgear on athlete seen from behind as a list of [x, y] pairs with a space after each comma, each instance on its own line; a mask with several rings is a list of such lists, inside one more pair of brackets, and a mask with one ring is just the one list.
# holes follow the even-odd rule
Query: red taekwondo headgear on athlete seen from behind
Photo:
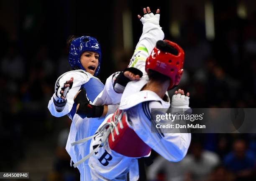
[[170, 77], [169, 90], [179, 84], [183, 73], [183, 64], [184, 51], [182, 48], [169, 40], [159, 40], [146, 60], [145, 69], [146, 72], [151, 69]]

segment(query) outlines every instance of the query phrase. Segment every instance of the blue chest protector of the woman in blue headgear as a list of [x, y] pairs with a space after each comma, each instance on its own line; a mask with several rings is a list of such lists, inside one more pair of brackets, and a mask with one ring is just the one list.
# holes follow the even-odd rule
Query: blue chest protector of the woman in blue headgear
[[[102, 84], [102, 82], [100, 82], [100, 80], [97, 79], [96, 77], [90, 77], [90, 80], [88, 82], [81, 85], [81, 88], [82, 87], [86, 90], [86, 94], [87, 94], [88, 99], [91, 102], [93, 102], [94, 99], [104, 89], [104, 84]], [[72, 119], [74, 117], [74, 114], [76, 113], [76, 107], [77, 107], [77, 104], [74, 103], [71, 111], [69, 112], [69, 117], [72, 118]]]

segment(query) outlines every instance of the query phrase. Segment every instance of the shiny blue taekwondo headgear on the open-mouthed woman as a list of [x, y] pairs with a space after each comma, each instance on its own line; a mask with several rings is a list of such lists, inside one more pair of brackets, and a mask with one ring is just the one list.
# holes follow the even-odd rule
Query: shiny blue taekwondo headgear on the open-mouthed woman
[[69, 64], [73, 69], [85, 70], [80, 62], [80, 56], [85, 51], [96, 52], [99, 54], [98, 67], [94, 73], [94, 76], [97, 76], [100, 71], [101, 50], [99, 42], [94, 37], [82, 36], [71, 42], [69, 47]]

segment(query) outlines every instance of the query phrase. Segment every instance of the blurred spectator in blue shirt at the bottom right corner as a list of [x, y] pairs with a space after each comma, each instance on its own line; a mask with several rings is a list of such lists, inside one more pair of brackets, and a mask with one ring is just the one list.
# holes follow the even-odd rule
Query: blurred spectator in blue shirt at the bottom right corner
[[236, 181], [252, 181], [255, 169], [255, 153], [249, 151], [246, 141], [238, 139], [233, 143], [233, 151], [223, 159], [224, 165], [236, 175]]

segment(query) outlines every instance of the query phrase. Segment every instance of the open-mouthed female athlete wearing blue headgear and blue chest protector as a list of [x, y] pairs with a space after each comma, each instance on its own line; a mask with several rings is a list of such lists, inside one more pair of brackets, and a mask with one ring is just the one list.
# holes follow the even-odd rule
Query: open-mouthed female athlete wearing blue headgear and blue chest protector
[[[75, 146], [71, 146], [71, 143], [92, 136], [104, 120], [104, 117], [101, 117], [103, 110], [108, 110], [103, 114], [108, 115], [115, 111], [116, 106], [109, 105], [108, 109], [103, 109], [103, 106], [91, 105], [91, 114], [86, 115], [87, 117], [80, 117], [75, 114], [77, 104], [74, 103], [74, 96], [79, 89], [86, 89], [87, 97], [92, 103], [104, 88], [100, 79], [95, 77], [100, 70], [102, 55], [100, 43], [94, 37], [71, 37], [68, 41], [71, 42], [69, 45], [69, 64], [74, 70], [62, 74], [57, 79], [55, 93], [49, 101], [48, 109], [55, 117], [68, 115], [72, 119], [66, 150], [72, 161], [76, 163], [89, 154], [90, 141]], [[132, 73], [128, 74], [127, 77], [138, 79], [138, 76], [136, 77]], [[88, 161], [80, 164], [78, 169], [81, 181], [91, 180]]]

